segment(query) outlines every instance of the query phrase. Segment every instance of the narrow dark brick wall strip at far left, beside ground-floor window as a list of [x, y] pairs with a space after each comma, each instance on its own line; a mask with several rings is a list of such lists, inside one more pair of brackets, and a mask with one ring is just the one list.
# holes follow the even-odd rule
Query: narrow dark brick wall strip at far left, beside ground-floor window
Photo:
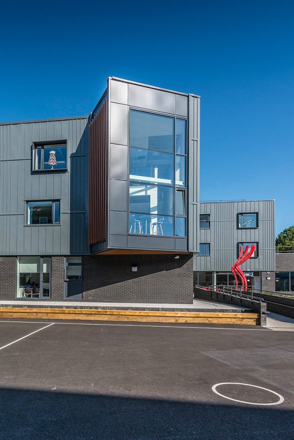
[[0, 256], [0, 300], [15, 300], [16, 263], [15, 256]]

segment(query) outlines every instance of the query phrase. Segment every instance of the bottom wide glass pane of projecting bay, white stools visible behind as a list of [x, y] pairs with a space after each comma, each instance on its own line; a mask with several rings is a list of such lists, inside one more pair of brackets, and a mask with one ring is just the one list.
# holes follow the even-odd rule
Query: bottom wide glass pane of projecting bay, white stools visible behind
[[130, 212], [129, 233], [173, 236], [174, 217]]

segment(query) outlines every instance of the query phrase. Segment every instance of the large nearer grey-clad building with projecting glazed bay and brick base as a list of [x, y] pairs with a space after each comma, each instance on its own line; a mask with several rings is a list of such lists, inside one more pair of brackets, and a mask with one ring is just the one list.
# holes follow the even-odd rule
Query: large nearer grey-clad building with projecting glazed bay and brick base
[[89, 116], [0, 124], [0, 299], [192, 303], [199, 102], [110, 77]]

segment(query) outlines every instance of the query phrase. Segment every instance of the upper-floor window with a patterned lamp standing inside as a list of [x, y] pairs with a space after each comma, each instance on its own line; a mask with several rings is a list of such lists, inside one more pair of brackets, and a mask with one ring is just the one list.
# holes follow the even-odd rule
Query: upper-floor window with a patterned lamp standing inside
[[67, 169], [67, 147], [65, 141], [58, 143], [34, 143], [33, 170], [58, 171]]

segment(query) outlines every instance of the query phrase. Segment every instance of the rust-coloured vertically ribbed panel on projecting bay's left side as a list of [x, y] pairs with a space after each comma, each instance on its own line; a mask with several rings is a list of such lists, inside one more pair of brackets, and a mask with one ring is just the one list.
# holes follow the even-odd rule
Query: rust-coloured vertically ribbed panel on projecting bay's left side
[[90, 123], [88, 243], [106, 240], [107, 100]]

